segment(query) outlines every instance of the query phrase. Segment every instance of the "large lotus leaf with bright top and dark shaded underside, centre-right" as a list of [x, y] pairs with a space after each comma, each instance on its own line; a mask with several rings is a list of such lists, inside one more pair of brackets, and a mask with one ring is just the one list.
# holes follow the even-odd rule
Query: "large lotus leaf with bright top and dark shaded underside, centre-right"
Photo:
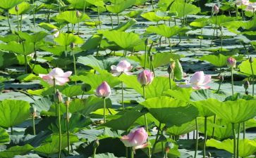
[[140, 104], [145, 105], [150, 114], [159, 122], [168, 126], [181, 126], [181, 124], [192, 121], [198, 115], [196, 107], [188, 105], [182, 100], [165, 96], [150, 98]]

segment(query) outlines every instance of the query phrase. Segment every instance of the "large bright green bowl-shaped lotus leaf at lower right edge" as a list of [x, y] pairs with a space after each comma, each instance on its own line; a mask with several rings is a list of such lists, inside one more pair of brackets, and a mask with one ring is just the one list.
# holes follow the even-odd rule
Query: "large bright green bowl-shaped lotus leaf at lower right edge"
[[205, 107], [217, 114], [217, 117], [231, 123], [240, 123], [256, 116], [256, 100], [243, 100], [220, 102], [216, 99], [203, 101]]

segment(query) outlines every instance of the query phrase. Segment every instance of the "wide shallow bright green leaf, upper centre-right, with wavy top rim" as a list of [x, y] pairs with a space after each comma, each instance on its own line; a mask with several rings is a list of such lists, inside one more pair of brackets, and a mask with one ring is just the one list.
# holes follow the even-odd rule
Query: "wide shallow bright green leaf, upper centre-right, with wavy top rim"
[[176, 34], [181, 34], [184, 32], [188, 32], [188, 27], [168, 27], [166, 25], [158, 25], [157, 27], [150, 26], [147, 27], [147, 32], [160, 34], [163, 37], [170, 38], [173, 37]]

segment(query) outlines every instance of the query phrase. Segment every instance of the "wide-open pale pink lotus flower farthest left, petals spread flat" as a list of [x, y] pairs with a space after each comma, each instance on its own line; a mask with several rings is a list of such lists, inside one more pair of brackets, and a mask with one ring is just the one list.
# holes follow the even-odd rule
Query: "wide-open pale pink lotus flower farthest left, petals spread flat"
[[63, 72], [59, 67], [54, 68], [49, 72], [49, 74], [39, 74], [44, 81], [47, 81], [48, 84], [54, 85], [54, 79], [56, 85], [63, 85], [69, 81], [68, 77], [70, 77], [72, 72]]

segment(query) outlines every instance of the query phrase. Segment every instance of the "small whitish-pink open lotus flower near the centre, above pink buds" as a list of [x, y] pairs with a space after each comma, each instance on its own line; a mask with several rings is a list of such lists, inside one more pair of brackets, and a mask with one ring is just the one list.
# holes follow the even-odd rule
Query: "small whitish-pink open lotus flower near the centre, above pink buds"
[[119, 76], [121, 73], [124, 74], [132, 74], [130, 70], [132, 70], [133, 66], [130, 65], [130, 62], [126, 60], [121, 60], [118, 65], [111, 65], [111, 73], [113, 73], [114, 76]]

